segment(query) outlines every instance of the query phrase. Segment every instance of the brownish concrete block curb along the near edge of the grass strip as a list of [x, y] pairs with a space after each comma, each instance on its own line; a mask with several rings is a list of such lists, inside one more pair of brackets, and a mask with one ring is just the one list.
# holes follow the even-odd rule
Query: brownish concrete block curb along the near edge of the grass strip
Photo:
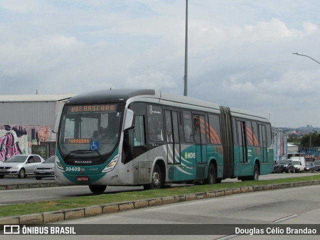
[[234, 189], [217, 190], [211, 192], [200, 192], [185, 195], [167, 196], [155, 199], [145, 199], [136, 201], [127, 201], [113, 204], [96, 205], [84, 208], [66, 209], [53, 212], [44, 212], [38, 214], [29, 214], [21, 216], [10, 216], [0, 218], [0, 226], [3, 225], [23, 225], [23, 224], [49, 224], [59, 221], [79, 219], [85, 217], [99, 216], [103, 214], [110, 214], [115, 212], [141, 209], [148, 207], [161, 206], [166, 204], [180, 203], [186, 201], [194, 201], [200, 199], [217, 198], [223, 196], [229, 196], [233, 194], [251, 193], [257, 191], [268, 191], [283, 188], [295, 188], [310, 185], [318, 185], [320, 180], [307, 181], [307, 182], [295, 182], [284, 183], [274, 185], [257, 185], [250, 187], [241, 187]]

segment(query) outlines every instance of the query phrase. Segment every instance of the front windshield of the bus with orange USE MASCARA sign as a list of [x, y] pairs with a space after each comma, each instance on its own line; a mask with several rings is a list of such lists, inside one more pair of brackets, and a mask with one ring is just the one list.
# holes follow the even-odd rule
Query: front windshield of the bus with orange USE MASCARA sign
[[122, 111], [122, 104], [65, 105], [58, 139], [60, 153], [70, 157], [111, 153], [120, 137]]

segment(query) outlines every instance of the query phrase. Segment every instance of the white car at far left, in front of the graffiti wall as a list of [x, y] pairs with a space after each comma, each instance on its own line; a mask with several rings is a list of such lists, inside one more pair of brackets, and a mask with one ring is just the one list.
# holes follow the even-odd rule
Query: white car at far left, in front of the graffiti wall
[[25, 178], [26, 175], [33, 175], [34, 167], [43, 162], [44, 159], [35, 154], [13, 155], [0, 165], [0, 178], [5, 175]]

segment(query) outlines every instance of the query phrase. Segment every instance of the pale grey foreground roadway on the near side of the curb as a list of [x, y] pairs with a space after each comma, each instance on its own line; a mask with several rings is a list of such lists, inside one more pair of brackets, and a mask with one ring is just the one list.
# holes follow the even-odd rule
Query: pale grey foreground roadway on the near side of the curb
[[[232, 240], [318, 240], [319, 236], [297, 236], [297, 235], [157, 235], [145, 236], [143, 233], [148, 229], [137, 224], [154, 224], [155, 229], [163, 228], [160, 224], [167, 224], [163, 229], [174, 233], [176, 224], [184, 227], [184, 231], [189, 228], [201, 228], [201, 225], [212, 224], [234, 224], [240, 227], [240, 224], [248, 224], [250, 226], [266, 226], [271, 225], [272, 228], [290, 227], [297, 224], [301, 228], [310, 226], [310, 223], [320, 228], [320, 205], [318, 200], [319, 185], [306, 186], [301, 188], [279, 189], [273, 191], [252, 192], [248, 194], [230, 195], [220, 198], [204, 199], [190, 202], [182, 202], [171, 205], [164, 205], [153, 208], [145, 208], [140, 210], [132, 210], [125, 212], [117, 212], [113, 214], [103, 215], [99, 217], [78, 219], [73, 221], [65, 221], [58, 226], [65, 227], [71, 225], [79, 225], [76, 228], [78, 234], [82, 236], [45, 236], [46, 240], [221, 240], [224, 237], [232, 237]], [[308, 196], [307, 198], [305, 196]], [[123, 227], [119, 235], [103, 236], [98, 235], [99, 232], [94, 230], [98, 224], [103, 224], [102, 230], [110, 228], [109, 224], [115, 224], [119, 227], [121, 224], [132, 224], [135, 231], [139, 231], [142, 235], [128, 236]], [[191, 224], [191, 225], [189, 225]], [[199, 224], [194, 226], [194, 224]], [[303, 225], [304, 224], [304, 225]], [[121, 227], [121, 226], [120, 226]], [[95, 234], [95, 235], [94, 235]], [[83, 236], [85, 235], [85, 236]], [[6, 240], [42, 240], [44, 236], [5, 236]]]

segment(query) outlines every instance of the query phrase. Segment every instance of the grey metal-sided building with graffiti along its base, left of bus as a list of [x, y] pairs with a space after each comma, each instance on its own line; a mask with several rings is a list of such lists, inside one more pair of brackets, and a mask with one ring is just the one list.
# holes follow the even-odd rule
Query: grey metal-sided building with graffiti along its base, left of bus
[[73, 96], [0, 95], [0, 161], [14, 154], [30, 154], [32, 149], [44, 158], [54, 155], [56, 135], [51, 132], [54, 116]]

